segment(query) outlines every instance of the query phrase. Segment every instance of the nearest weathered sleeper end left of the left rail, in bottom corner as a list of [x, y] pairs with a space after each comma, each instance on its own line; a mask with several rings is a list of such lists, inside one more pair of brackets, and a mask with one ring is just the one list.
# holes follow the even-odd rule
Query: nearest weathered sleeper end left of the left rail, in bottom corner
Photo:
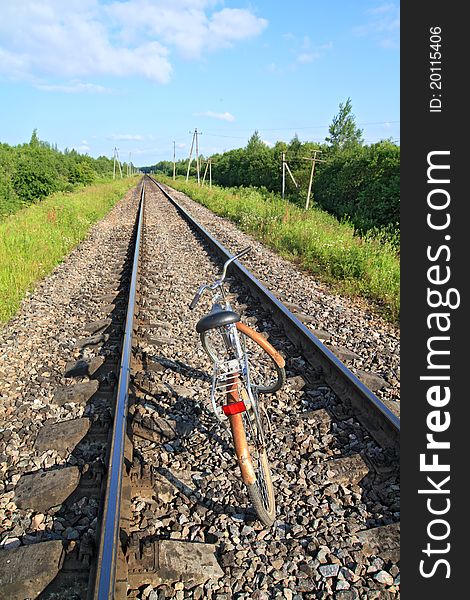
[[64, 561], [60, 540], [0, 552], [0, 596], [37, 598], [56, 577]]

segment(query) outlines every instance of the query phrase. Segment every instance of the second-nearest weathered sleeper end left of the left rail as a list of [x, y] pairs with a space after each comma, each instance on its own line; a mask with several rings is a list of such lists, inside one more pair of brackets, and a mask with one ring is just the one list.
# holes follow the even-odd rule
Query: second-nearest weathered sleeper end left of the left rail
[[23, 475], [15, 488], [15, 504], [18, 508], [45, 513], [52, 506], [62, 504], [77, 488], [79, 479], [77, 467]]

